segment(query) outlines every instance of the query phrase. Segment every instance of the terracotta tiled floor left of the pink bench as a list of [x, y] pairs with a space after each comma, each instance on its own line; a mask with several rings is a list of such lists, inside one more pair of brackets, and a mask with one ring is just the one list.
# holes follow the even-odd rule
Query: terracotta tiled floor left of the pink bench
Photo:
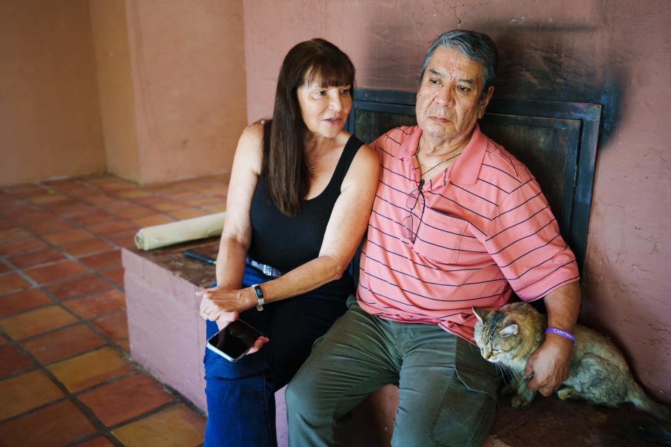
[[224, 177], [0, 188], [0, 446], [199, 446], [204, 418], [129, 360], [120, 247], [225, 208]]

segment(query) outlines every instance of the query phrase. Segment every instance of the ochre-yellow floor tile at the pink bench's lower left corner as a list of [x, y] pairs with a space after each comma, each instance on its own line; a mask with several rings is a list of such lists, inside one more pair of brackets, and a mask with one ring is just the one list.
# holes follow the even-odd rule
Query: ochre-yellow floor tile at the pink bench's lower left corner
[[82, 354], [62, 362], [53, 363], [47, 369], [72, 393], [84, 390], [113, 377], [127, 374], [133, 365], [112, 348]]

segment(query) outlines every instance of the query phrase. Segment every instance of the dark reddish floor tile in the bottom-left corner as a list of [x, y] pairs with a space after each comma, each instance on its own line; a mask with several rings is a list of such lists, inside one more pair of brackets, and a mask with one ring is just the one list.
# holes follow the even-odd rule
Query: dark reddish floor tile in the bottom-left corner
[[95, 432], [94, 425], [69, 400], [0, 425], [3, 446], [64, 446]]

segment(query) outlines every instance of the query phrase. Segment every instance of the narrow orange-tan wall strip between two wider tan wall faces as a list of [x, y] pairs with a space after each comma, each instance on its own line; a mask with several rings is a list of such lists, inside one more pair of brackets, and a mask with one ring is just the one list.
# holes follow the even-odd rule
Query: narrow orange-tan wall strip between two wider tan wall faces
[[124, 0], [90, 0], [107, 171], [140, 182]]

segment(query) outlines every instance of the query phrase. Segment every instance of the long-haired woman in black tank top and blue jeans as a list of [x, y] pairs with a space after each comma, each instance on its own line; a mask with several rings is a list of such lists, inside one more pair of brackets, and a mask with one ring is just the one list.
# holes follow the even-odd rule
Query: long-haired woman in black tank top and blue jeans
[[[239, 318], [264, 337], [238, 362], [205, 350], [205, 446], [276, 446], [274, 393], [354, 293], [347, 265], [377, 189], [375, 153], [343, 131], [354, 67], [323, 39], [284, 58], [273, 119], [238, 142], [207, 337]], [[267, 344], [266, 344], [267, 342]]]

